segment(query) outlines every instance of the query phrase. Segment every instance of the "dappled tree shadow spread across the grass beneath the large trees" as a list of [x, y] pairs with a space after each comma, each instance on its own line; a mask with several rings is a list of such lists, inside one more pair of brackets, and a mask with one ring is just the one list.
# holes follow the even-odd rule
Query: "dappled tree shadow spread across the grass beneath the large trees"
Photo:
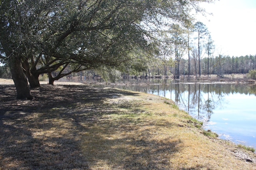
[[143, 120], [150, 113], [122, 98], [136, 93], [45, 85], [32, 90], [34, 100], [23, 101], [8, 88], [4, 96], [10, 98], [1, 103], [0, 169], [164, 170], [182, 149], [171, 135], [158, 139], [156, 123]]

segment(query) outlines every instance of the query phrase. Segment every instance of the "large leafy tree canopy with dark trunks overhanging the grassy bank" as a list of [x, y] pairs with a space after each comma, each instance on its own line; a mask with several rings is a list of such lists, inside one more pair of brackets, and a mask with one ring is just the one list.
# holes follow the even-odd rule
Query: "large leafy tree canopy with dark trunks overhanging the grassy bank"
[[191, 8], [212, 1], [1, 0], [0, 61], [11, 67], [18, 98], [31, 99], [26, 77], [36, 87], [40, 74], [60, 67], [127, 67], [140, 56], [134, 49], [155, 52], [160, 31], [189, 23]]

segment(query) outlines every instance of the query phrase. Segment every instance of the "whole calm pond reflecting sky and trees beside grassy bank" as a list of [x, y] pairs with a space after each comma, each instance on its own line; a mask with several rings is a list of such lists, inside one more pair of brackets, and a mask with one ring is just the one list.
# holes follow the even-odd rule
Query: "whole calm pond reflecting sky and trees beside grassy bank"
[[[203, 121], [221, 139], [256, 148], [256, 85], [183, 80], [132, 80], [113, 88], [163, 96]], [[154, 85], [140, 85], [140, 84]], [[137, 84], [137, 85], [127, 85]]]

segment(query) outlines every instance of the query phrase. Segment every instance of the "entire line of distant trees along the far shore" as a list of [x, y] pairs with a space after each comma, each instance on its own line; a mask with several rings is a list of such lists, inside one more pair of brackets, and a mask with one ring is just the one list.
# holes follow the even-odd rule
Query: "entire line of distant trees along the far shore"
[[[247, 74], [250, 70], [256, 69], [256, 55], [246, 55], [240, 57], [230, 57], [225, 55], [219, 55], [216, 57], [210, 58], [209, 64], [209, 76], [212, 74], [218, 76], [224, 76], [224, 74]], [[169, 61], [168, 61], [169, 62]], [[100, 75], [106, 79], [114, 81], [118, 76], [171, 76], [175, 74], [175, 68], [173, 63], [168, 65], [167, 61], [162, 61], [159, 59], [158, 62], [150, 64], [150, 62], [144, 63], [145, 66], [138, 66], [130, 69], [128, 72], [120, 72], [117, 70], [109, 70], [108, 72], [101, 70], [84, 70], [81, 72], [74, 72], [72, 76], [93, 76]], [[170, 62], [169, 62], [170, 63]], [[198, 60], [195, 58], [190, 59], [190, 75], [199, 76], [198, 74]], [[68, 68], [66, 68], [68, 72]], [[102, 75], [104, 72], [104, 75]], [[180, 60], [179, 72], [183, 76], [188, 76], [188, 59]], [[106, 75], [108, 73], [108, 75]], [[208, 58], [203, 58], [201, 60], [201, 73], [202, 75], [208, 75]], [[52, 72], [52, 74], [58, 74], [58, 70]], [[111, 77], [111, 76], [112, 77]], [[47, 76], [41, 76], [46, 78]], [[12, 78], [10, 73], [10, 68], [7, 66], [0, 66], [0, 78]]]

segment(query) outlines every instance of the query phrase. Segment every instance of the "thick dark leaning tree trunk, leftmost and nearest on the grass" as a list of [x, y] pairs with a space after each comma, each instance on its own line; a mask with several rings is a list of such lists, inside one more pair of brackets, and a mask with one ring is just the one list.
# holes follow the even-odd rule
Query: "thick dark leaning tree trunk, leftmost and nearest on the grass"
[[17, 91], [17, 98], [32, 100], [33, 96], [30, 92], [28, 80], [23, 72], [20, 60], [16, 60], [16, 63], [12, 65], [11, 73]]

